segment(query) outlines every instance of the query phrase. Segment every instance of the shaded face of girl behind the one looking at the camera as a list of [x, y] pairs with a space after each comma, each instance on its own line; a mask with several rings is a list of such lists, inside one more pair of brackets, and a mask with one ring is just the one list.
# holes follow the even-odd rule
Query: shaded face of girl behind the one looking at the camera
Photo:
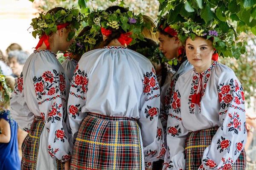
[[175, 42], [175, 37], [169, 37], [168, 35], [164, 35], [159, 33], [159, 49], [162, 51], [164, 56], [167, 59], [174, 59], [177, 55], [177, 45]]

